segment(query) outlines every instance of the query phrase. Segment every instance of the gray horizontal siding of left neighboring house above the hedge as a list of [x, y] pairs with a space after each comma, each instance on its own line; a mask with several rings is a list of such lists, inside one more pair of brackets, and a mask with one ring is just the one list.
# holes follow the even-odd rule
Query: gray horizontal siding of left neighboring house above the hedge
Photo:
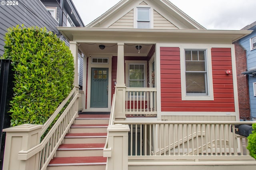
[[16, 6], [1, 5], [0, 20], [0, 56], [4, 54], [4, 36], [7, 28], [24, 24], [25, 27], [46, 27], [48, 31], [58, 33], [58, 22], [40, 0], [22, 0], [18, 1]]

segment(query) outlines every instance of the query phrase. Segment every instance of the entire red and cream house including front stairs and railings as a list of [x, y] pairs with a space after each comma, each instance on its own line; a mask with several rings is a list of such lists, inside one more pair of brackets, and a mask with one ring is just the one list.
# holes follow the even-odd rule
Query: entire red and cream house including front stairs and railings
[[[168, 0], [121, 0], [86, 27], [58, 30], [70, 41], [76, 88], [78, 50], [85, 54], [82, 91], [74, 89], [73, 106], [41, 143], [5, 155], [6, 164], [18, 157], [47, 170], [255, 169], [239, 126], [255, 122], [239, 121], [232, 44], [252, 31], [206, 30]], [[110, 112], [108, 125], [101, 112]], [[40, 128], [26, 126], [24, 136]]]

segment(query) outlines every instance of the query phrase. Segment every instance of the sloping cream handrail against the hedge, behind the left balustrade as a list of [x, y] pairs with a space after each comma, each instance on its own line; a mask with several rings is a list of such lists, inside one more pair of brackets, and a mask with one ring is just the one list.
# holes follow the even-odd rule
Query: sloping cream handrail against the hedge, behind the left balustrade
[[44, 123], [44, 127], [42, 128], [41, 134], [44, 134], [44, 132], [48, 129], [48, 127], [51, 125], [52, 121], [54, 121], [56, 116], [60, 113], [61, 109], [66, 105], [68, 100], [71, 99], [71, 97], [74, 95], [76, 90], [78, 90], [77, 87], [74, 87], [72, 89], [72, 91], [69, 93], [68, 97], [66, 97], [66, 99], [64, 99], [64, 101], [62, 101], [62, 103], [60, 103], [60, 105], [57, 107], [57, 109], [54, 111], [54, 113], [51, 115], [51, 117], [46, 121], [46, 123]]

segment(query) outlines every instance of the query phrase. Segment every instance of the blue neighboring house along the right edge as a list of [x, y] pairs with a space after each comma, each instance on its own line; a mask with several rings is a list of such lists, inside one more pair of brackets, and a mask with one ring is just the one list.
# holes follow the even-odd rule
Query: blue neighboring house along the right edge
[[[249, 100], [250, 100], [250, 118], [255, 121], [256, 120], [256, 22], [242, 28], [242, 30], [253, 30], [251, 34], [245, 36], [238, 40], [240, 46], [244, 49], [244, 53], [246, 53], [246, 61], [247, 69], [242, 72], [242, 74], [247, 75], [247, 82], [243, 84], [249, 86]], [[236, 52], [238, 52], [238, 48], [236, 48]], [[237, 55], [236, 57], [241, 57], [241, 55]], [[237, 67], [242, 67], [241, 64], [238, 64]], [[243, 94], [244, 95], [244, 94]]]

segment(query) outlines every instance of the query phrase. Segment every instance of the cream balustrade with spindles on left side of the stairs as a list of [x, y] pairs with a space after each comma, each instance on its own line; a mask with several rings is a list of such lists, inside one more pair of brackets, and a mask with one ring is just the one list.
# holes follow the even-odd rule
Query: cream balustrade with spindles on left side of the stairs
[[81, 94], [78, 93], [78, 88], [75, 87], [70, 95], [60, 104], [54, 114], [48, 119], [42, 128], [41, 135], [47, 130], [52, 121], [56, 119], [58, 113], [70, 101], [69, 105], [60, 115], [56, 123], [40, 142], [29, 150], [21, 150], [18, 152], [18, 160], [28, 160], [32, 156], [38, 154], [38, 170], [45, 170], [50, 160], [54, 157], [58, 146], [62, 143], [64, 136], [70, 129], [74, 119], [78, 116], [78, 100]]

